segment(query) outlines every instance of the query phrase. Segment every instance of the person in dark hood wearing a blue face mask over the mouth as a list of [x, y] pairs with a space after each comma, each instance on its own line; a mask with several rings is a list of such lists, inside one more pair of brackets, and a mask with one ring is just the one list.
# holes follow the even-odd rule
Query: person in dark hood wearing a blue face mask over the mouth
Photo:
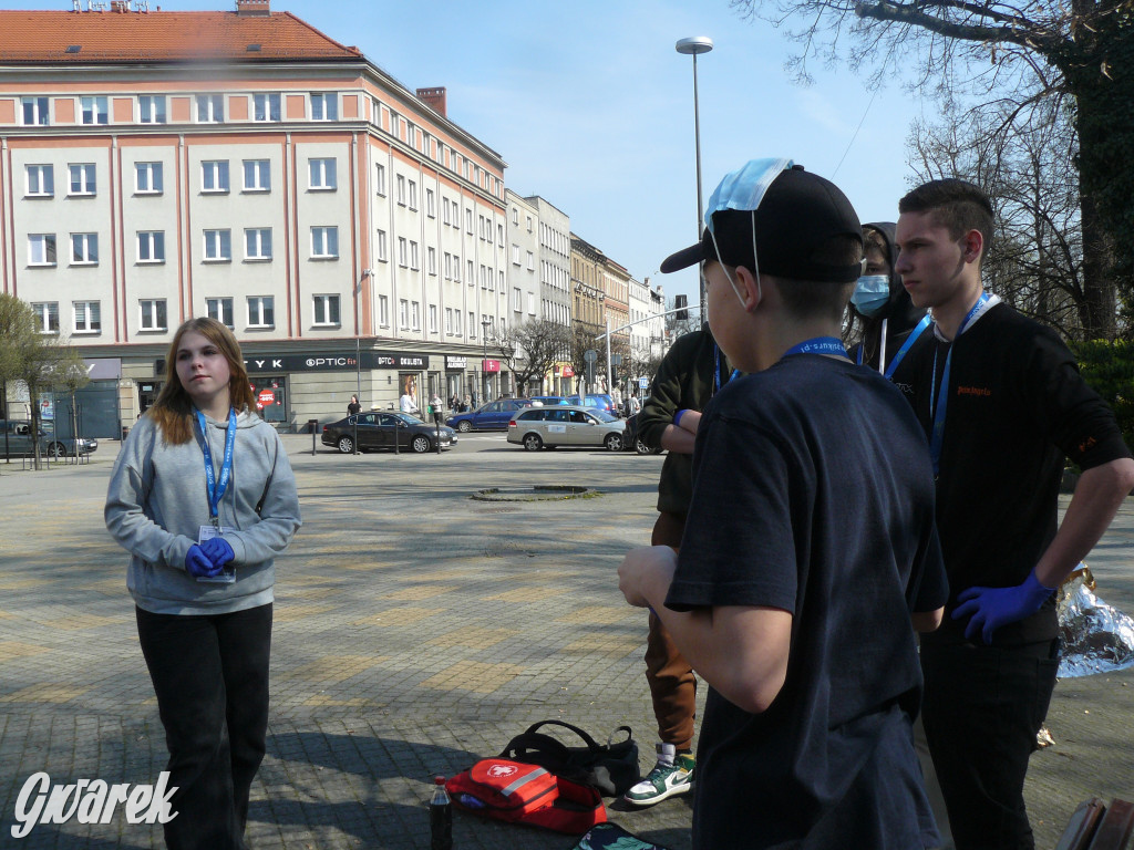
[[929, 328], [925, 311], [915, 307], [894, 271], [898, 249], [894, 222], [863, 224], [866, 267], [850, 295], [846, 338], [857, 338], [850, 359], [892, 379], [906, 354]]

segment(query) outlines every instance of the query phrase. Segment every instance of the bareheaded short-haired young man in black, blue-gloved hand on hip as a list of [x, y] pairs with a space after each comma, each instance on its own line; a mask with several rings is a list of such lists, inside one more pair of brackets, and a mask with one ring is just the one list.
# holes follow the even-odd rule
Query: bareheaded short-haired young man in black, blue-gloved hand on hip
[[[1031, 850], [1024, 775], [1058, 668], [1053, 588], [1134, 486], [1134, 460], [1059, 338], [983, 291], [984, 193], [934, 180], [898, 210], [896, 270], [934, 328], [895, 382], [939, 470], [950, 587], [921, 646], [925, 733], [958, 850]], [[1083, 475], [1057, 532], [1064, 456]]]

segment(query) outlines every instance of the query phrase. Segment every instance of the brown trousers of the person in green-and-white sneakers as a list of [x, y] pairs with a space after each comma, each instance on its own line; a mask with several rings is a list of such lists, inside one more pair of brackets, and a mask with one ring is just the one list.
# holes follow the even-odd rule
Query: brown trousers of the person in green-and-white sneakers
[[[682, 545], [684, 530], [683, 515], [661, 512], [653, 526], [650, 543], [677, 549]], [[688, 749], [693, 743], [697, 680], [689, 662], [677, 651], [669, 632], [652, 612], [645, 649], [645, 678], [653, 697], [659, 739], [662, 743], [672, 743], [679, 750]]]

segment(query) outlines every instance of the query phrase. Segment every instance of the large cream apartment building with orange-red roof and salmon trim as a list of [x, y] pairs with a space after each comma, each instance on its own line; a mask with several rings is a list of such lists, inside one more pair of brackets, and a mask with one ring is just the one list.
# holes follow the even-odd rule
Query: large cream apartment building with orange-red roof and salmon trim
[[515, 321], [501, 155], [443, 88], [236, 7], [0, 11], [0, 291], [86, 358], [88, 431], [152, 402], [193, 315], [280, 427], [483, 385], [484, 323]]

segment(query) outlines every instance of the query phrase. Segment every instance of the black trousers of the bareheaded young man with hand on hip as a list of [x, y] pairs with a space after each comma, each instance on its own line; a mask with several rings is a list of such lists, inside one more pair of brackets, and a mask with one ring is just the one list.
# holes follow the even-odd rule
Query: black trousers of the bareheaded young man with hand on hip
[[1059, 666], [1055, 640], [921, 647], [922, 722], [957, 850], [1033, 850], [1024, 776]]

